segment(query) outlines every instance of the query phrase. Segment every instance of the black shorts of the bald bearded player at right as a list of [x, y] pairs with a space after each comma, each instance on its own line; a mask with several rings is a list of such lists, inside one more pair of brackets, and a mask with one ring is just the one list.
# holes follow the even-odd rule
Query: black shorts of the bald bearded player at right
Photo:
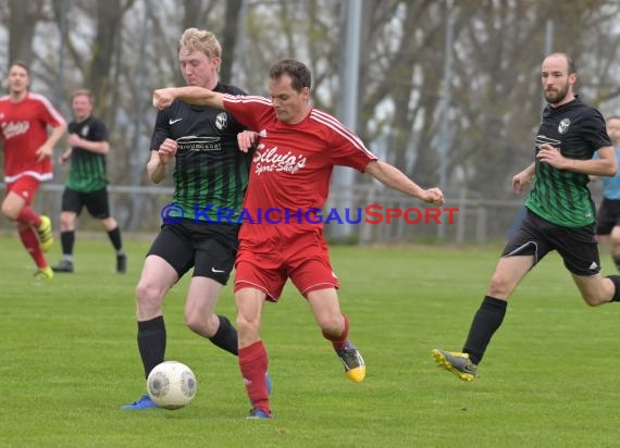
[[557, 250], [565, 266], [574, 275], [591, 276], [600, 272], [594, 224], [565, 227], [553, 224], [528, 210], [523, 223], [508, 241], [501, 257], [534, 256], [534, 264]]

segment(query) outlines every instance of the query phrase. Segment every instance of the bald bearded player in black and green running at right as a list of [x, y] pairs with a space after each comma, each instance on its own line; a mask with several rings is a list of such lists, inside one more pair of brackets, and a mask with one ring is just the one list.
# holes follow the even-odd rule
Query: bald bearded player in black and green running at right
[[[587, 188], [588, 175], [613, 176], [618, 163], [603, 115], [574, 95], [575, 82], [569, 55], [545, 58], [542, 83], [548, 105], [534, 144], [535, 162], [512, 178], [516, 192], [535, 178], [525, 201], [528, 214], [504, 249], [462, 352], [432, 352], [439, 366], [463, 381], [474, 379], [517, 285], [549, 251], [558, 251], [587, 304], [620, 301], [620, 276], [600, 275], [595, 208]], [[597, 159], [592, 158], [595, 152]]]

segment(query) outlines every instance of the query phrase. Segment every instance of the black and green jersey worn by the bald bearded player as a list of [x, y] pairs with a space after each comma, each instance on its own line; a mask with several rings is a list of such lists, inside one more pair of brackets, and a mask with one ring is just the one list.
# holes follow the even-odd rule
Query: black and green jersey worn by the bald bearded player
[[[535, 153], [543, 144], [558, 148], [566, 158], [578, 160], [590, 160], [598, 149], [611, 146], [600, 112], [578, 97], [558, 108], [545, 108], [535, 139]], [[588, 176], [535, 160], [535, 182], [525, 207], [565, 227], [594, 223], [595, 206], [587, 188]]]

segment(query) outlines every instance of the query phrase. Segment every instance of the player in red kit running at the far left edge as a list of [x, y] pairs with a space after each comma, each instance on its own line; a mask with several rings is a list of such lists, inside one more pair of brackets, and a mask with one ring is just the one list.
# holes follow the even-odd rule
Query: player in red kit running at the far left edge
[[[32, 208], [39, 183], [52, 178], [51, 155], [66, 130], [62, 115], [47, 98], [28, 91], [30, 74], [23, 62], [9, 70], [9, 95], [0, 97], [0, 138], [4, 142], [7, 196], [2, 214], [17, 224], [20, 238], [35, 261], [35, 277], [53, 277], [44, 252], [53, 241], [48, 216]], [[48, 126], [53, 130], [48, 135]]]

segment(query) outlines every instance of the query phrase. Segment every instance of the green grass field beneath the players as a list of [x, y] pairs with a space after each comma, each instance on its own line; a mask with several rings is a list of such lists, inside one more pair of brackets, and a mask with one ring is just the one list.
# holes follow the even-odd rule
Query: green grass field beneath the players
[[[556, 256], [522, 283], [474, 383], [432, 362], [434, 347], [460, 350], [498, 247], [333, 248], [367, 379], [346, 379], [287, 286], [263, 320], [272, 421], [244, 419], [237, 360], [184, 327], [183, 281], [164, 302], [166, 358], [193, 368], [198, 394], [121, 411], [145, 390], [134, 287], [149, 242], [126, 241], [117, 275], [109, 242], [78, 235], [76, 273], [35, 282], [17, 239], [0, 238], [0, 446], [620, 446], [620, 304], [586, 307]], [[234, 316], [230, 286], [219, 312]]]

